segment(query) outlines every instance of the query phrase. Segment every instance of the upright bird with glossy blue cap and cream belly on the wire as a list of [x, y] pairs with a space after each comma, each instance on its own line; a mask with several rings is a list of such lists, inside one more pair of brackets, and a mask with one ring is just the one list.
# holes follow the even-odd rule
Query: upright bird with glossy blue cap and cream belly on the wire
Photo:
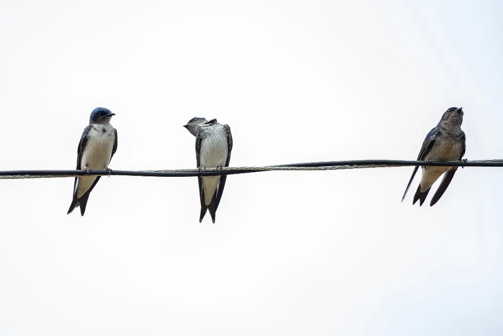
[[[90, 172], [107, 170], [110, 161], [117, 151], [117, 129], [110, 124], [114, 116], [108, 108], [97, 107], [91, 112], [89, 125], [84, 128], [77, 147], [77, 170]], [[86, 212], [88, 198], [101, 176], [75, 177], [73, 183], [73, 199], [68, 214], [80, 207], [80, 216]]]

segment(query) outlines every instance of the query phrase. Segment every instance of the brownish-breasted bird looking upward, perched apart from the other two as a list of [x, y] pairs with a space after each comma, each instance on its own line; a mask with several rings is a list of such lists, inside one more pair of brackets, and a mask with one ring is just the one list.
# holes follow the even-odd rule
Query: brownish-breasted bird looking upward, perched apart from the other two
[[[444, 112], [437, 126], [430, 130], [426, 136], [421, 151], [417, 156], [417, 161], [461, 161], [466, 151], [466, 137], [461, 129], [463, 114], [462, 107], [450, 107]], [[463, 161], [466, 162], [467, 160], [465, 159]], [[416, 166], [412, 172], [407, 188], [403, 193], [402, 201], [407, 194], [418, 168], [419, 167]], [[457, 168], [458, 167], [422, 166], [423, 175], [414, 194], [412, 205], [419, 200], [419, 205], [421, 207], [432, 185], [437, 181], [440, 175], [445, 173], [439, 188], [431, 200], [430, 207], [434, 206], [444, 194], [449, 183], [451, 183]]]

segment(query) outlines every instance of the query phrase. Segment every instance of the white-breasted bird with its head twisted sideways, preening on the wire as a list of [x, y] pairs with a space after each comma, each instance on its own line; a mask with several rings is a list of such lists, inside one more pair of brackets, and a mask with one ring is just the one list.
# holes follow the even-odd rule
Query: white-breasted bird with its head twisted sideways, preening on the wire
[[[197, 167], [219, 168], [228, 167], [230, 153], [232, 151], [232, 134], [229, 125], [222, 125], [217, 119], [194, 117], [184, 125], [187, 130], [196, 137], [196, 162]], [[226, 175], [221, 176], [198, 176], [199, 199], [201, 201], [201, 213], [199, 223], [203, 221], [208, 210], [211, 221], [215, 223], [215, 214], [222, 198], [225, 187]]]

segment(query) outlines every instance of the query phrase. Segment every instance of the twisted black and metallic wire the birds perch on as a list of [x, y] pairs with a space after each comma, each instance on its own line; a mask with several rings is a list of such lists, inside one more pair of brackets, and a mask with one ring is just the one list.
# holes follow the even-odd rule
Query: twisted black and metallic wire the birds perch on
[[404, 160], [350, 160], [350, 161], [325, 161], [291, 163], [264, 167], [223, 167], [199, 169], [168, 169], [168, 170], [94, 170], [89, 173], [83, 170], [7, 170], [0, 171], [0, 179], [24, 179], [24, 178], [54, 178], [76, 176], [151, 176], [151, 177], [194, 177], [247, 174], [262, 171], [298, 171], [298, 170], [341, 170], [359, 168], [381, 167], [408, 167], [408, 166], [455, 166], [455, 167], [503, 167], [503, 159], [475, 160], [475, 161], [404, 161]]

